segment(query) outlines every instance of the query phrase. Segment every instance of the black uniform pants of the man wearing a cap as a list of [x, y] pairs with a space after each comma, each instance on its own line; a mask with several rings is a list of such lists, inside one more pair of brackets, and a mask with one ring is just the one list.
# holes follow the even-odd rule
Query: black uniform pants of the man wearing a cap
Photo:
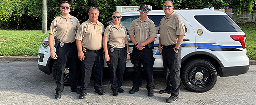
[[155, 58], [153, 58], [153, 51], [152, 48], [145, 47], [142, 50], [138, 50], [135, 45], [132, 48], [132, 59], [134, 59], [133, 64], [133, 87], [140, 87], [142, 82], [142, 68], [146, 73], [146, 82], [147, 82], [147, 90], [153, 90], [154, 87], [154, 78], [153, 78], [153, 65]]

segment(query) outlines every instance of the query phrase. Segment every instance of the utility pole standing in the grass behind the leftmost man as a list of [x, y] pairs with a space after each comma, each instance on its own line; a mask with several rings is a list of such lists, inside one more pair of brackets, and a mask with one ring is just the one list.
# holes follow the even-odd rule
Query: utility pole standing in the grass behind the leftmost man
[[46, 0], [42, 0], [42, 30], [43, 33], [47, 33], [47, 11], [46, 11]]

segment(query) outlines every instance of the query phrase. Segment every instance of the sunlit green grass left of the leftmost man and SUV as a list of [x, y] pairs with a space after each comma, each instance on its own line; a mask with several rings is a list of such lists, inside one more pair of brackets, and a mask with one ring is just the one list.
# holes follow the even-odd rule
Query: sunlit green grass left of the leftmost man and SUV
[[37, 56], [47, 36], [42, 30], [0, 30], [0, 56]]

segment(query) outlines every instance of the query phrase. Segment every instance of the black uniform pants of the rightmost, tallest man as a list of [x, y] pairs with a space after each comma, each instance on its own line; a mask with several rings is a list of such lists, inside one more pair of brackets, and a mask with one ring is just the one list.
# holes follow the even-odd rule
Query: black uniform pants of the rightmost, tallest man
[[167, 85], [166, 89], [171, 90], [171, 95], [179, 95], [181, 89], [181, 46], [177, 54], [173, 49], [174, 47], [163, 47], [163, 73], [165, 75]]

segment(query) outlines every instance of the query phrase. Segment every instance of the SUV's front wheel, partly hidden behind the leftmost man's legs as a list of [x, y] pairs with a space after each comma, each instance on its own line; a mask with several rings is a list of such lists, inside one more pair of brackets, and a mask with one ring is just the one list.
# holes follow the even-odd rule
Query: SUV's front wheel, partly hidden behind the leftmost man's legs
[[[52, 71], [53, 71], [53, 78], [56, 81], [56, 76], [57, 76], [57, 63], [56, 62], [53, 64]], [[65, 70], [64, 70], [64, 85], [69, 85], [69, 68], [68, 67], [65, 68]]]

